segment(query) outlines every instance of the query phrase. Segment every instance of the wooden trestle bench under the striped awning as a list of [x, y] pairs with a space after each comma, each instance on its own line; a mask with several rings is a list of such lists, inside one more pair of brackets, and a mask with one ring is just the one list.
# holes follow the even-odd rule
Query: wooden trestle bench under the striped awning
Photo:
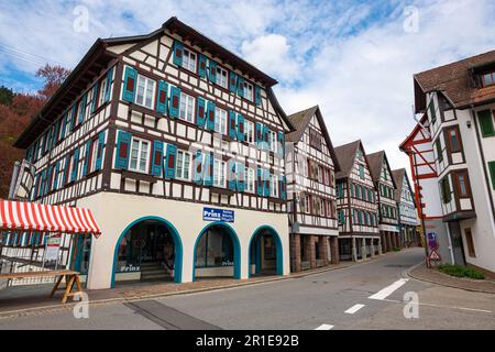
[[[79, 280], [79, 273], [74, 271], [42, 271], [42, 272], [26, 272], [26, 273], [10, 273], [0, 274], [0, 279], [22, 279], [22, 278], [40, 278], [40, 277], [52, 277], [58, 278], [55, 282], [55, 286], [52, 289], [50, 297], [52, 298], [61, 286], [62, 279], [65, 277], [65, 292], [62, 297], [62, 302], [65, 304], [68, 297], [80, 295], [82, 293], [82, 286]], [[74, 284], [76, 284], [76, 289], [74, 290]]]

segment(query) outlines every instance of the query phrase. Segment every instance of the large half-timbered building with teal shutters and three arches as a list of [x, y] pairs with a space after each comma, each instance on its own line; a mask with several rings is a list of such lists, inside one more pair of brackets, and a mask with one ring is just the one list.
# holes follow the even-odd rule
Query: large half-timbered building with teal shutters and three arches
[[89, 288], [289, 272], [275, 84], [176, 18], [94, 44], [15, 143], [33, 200], [96, 215]]

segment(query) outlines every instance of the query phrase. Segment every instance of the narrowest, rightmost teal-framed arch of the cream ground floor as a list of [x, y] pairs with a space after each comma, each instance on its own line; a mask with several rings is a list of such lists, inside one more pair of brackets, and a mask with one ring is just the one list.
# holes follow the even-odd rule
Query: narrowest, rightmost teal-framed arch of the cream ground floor
[[284, 275], [282, 241], [272, 227], [256, 229], [251, 238], [249, 274]]

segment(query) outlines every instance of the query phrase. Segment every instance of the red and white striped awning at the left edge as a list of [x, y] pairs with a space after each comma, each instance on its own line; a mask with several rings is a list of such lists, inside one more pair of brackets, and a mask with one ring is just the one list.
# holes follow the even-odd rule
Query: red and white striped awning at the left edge
[[101, 234], [89, 209], [2, 199], [0, 230]]

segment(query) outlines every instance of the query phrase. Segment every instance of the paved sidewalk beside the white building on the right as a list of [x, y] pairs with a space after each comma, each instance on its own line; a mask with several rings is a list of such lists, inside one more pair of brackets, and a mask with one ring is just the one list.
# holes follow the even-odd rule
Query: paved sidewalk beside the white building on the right
[[419, 265], [408, 273], [413, 278], [453, 288], [461, 288], [471, 292], [495, 294], [495, 280], [473, 279], [465, 277], [454, 277], [443, 274], [435, 268], [427, 268], [425, 264]]

